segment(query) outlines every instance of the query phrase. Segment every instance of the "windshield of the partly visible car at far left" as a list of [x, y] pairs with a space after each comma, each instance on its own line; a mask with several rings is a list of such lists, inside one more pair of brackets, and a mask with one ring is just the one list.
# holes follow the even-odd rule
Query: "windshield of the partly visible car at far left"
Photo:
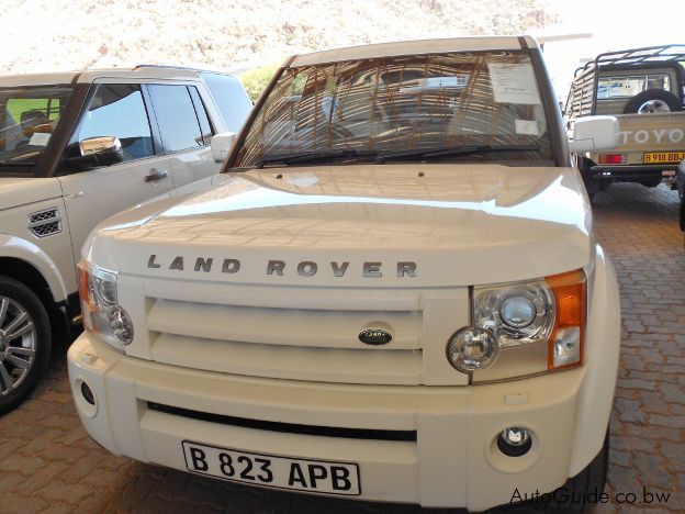
[[0, 172], [32, 172], [71, 93], [68, 86], [0, 88]]

